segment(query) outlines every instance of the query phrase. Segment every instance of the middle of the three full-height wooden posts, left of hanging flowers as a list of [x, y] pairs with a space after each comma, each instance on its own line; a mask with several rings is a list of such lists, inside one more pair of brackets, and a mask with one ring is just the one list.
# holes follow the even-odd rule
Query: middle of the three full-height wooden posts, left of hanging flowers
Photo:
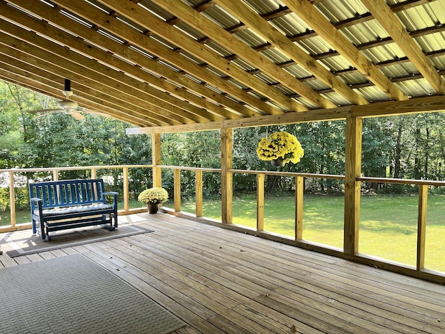
[[221, 221], [223, 224], [232, 223], [232, 128], [221, 129]]

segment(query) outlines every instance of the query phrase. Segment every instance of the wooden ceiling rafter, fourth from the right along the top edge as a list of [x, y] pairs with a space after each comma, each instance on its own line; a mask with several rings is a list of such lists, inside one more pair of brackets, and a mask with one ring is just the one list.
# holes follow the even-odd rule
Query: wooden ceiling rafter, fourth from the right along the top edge
[[[305, 97], [307, 100], [316, 104], [316, 106], [321, 106], [323, 108], [334, 108], [336, 106], [334, 103], [330, 102], [330, 100], [327, 100], [325, 97], [316, 93], [315, 90], [309, 88], [309, 86], [306, 86], [302, 82], [296, 80], [293, 75], [289, 74], [286, 71], [283, 71], [280, 66], [276, 65], [272, 61], [269, 61], [266, 57], [259, 54], [259, 52], [254, 51], [254, 49], [252, 49], [249, 45], [246, 45], [245, 42], [236, 38], [236, 36], [232, 35], [232, 33], [229, 33], [225, 29], [221, 28], [218, 24], [211, 21], [211, 19], [208, 19], [204, 15], [200, 15], [199, 13], [197, 13], [196, 10], [191, 8], [191, 6], [188, 6], [183, 1], [153, 1], [161, 8], [168, 10], [170, 13], [176, 15], [190, 26], [193, 26], [193, 28], [197, 29], [204, 35], [211, 32], [211, 40], [214, 40], [223, 47], [233, 51], [239, 58], [242, 58], [243, 61], [247, 61], [255, 67], [258, 67], [261, 71], [268, 74], [268, 76], [279, 81], [283, 86], [294, 90], [302, 97]], [[224, 3], [224, 1], [218, 1], [218, 3], [221, 5]], [[234, 5], [232, 1], [230, 1], [230, 3], [232, 3], [231, 7], [236, 7], [236, 14], [238, 17], [241, 15], [243, 8], [247, 7], [247, 5], [243, 5], [242, 2], [238, 2], [236, 3], [236, 5]], [[243, 18], [240, 18], [241, 21], [243, 21]], [[258, 18], [261, 19], [261, 17]], [[266, 21], [264, 21], [263, 19], [261, 19], [261, 21], [266, 23]], [[286, 38], [284, 37], [284, 39]], [[290, 41], [289, 43], [292, 44]], [[300, 51], [300, 54], [305, 54], [305, 52]], [[310, 56], [308, 57], [310, 58]]]

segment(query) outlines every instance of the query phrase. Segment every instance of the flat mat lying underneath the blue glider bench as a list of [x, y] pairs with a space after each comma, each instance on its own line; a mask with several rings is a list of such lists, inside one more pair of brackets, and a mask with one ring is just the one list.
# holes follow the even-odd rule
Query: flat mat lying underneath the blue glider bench
[[99, 225], [51, 232], [51, 241], [43, 241], [40, 235], [32, 234], [31, 230], [23, 230], [3, 234], [0, 244], [1, 250], [6, 252], [9, 257], [16, 257], [148, 232], [153, 231], [138, 225], [120, 225], [114, 231]]

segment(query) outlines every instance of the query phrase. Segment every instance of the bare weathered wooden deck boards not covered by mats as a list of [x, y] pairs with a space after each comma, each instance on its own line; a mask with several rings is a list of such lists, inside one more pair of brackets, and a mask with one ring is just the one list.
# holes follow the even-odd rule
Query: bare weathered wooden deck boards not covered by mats
[[120, 220], [136, 218], [154, 232], [0, 262], [82, 253], [185, 321], [178, 334], [445, 333], [442, 285], [168, 214]]

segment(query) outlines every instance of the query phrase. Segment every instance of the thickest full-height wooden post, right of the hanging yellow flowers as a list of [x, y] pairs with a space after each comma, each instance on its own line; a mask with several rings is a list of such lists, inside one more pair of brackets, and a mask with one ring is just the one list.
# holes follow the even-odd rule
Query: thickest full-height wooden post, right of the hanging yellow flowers
[[360, 182], [362, 173], [362, 118], [346, 118], [344, 253], [359, 249]]

